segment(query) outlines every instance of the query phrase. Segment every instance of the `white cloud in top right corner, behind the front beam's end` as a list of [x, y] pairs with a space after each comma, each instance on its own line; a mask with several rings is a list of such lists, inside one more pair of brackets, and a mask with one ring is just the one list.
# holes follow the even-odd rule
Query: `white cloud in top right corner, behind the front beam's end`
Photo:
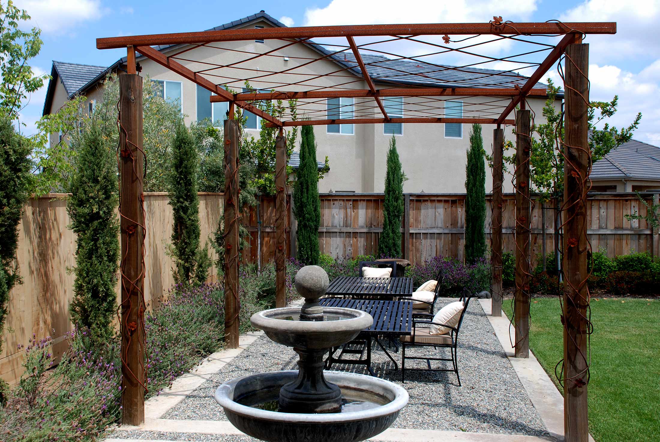
[[658, 0], [587, 0], [560, 16], [562, 21], [616, 22], [616, 34], [591, 35], [589, 57], [596, 63], [612, 60], [645, 59], [660, 51], [660, 20]]

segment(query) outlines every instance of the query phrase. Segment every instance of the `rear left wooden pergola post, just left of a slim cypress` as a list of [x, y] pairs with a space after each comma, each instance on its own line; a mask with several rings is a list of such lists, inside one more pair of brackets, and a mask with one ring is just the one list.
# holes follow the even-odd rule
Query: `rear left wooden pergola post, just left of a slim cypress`
[[275, 138], [275, 307], [286, 307], [286, 137]]

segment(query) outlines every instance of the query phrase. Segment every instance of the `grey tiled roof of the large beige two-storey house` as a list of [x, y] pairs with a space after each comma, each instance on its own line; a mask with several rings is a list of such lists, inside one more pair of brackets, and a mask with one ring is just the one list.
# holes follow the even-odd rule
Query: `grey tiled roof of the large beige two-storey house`
[[[233, 20], [225, 24], [220, 24], [207, 31], [217, 31], [236, 28], [244, 26], [249, 22], [257, 20], [265, 20], [270, 22], [273, 26], [279, 28], [286, 28], [286, 24], [268, 15], [265, 11], [259, 11], [256, 14], [248, 15], [238, 20]], [[171, 47], [180, 45], [159, 45], [153, 46], [158, 51], [164, 51]], [[326, 49], [319, 44], [308, 45], [319, 51], [323, 55], [330, 55], [333, 51]], [[514, 72], [496, 71], [494, 69], [482, 69], [474, 67], [455, 67], [448, 65], [435, 65], [432, 63], [424, 63], [423, 61], [403, 60], [403, 59], [388, 59], [383, 55], [374, 55], [360, 53], [367, 71], [375, 82], [389, 82], [394, 84], [410, 84], [417, 86], [434, 86], [434, 87], [475, 87], [475, 88], [513, 88], [515, 86], [522, 86], [527, 81], [527, 77]], [[348, 51], [341, 54], [334, 54], [329, 57], [336, 63], [343, 67], [347, 67], [352, 73], [362, 77], [360, 67], [356, 62], [353, 53]], [[52, 101], [52, 93], [54, 93], [54, 80], [55, 73], [62, 71], [65, 88], [69, 98], [73, 97], [76, 93], [84, 92], [88, 88], [94, 86], [99, 80], [105, 77], [106, 73], [112, 69], [123, 65], [126, 62], [126, 57], [121, 57], [110, 67], [80, 65], [77, 63], [63, 63], [61, 61], [53, 61], [53, 77], [48, 83], [48, 91], [46, 92], [46, 102], [44, 103], [44, 115]], [[52, 91], [51, 91], [52, 86]], [[535, 88], [546, 88], [547, 85], [538, 82]], [[75, 88], [75, 90], [74, 90]], [[564, 96], [563, 91], [557, 94], [557, 98]]]

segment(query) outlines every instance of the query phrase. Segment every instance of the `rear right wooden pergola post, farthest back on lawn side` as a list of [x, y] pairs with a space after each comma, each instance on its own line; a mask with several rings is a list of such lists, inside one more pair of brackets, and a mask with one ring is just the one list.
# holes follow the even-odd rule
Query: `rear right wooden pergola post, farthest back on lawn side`
[[491, 315], [502, 316], [502, 156], [504, 156], [504, 131], [498, 125], [493, 130], [493, 194], [490, 214], [490, 258], [492, 263]]

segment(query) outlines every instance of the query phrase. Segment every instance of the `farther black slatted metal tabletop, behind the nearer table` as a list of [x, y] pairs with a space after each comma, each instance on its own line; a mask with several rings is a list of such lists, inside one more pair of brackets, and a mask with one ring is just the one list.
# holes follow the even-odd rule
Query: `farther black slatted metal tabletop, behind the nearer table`
[[330, 282], [326, 296], [392, 300], [412, 296], [413, 278], [364, 278], [339, 276]]

